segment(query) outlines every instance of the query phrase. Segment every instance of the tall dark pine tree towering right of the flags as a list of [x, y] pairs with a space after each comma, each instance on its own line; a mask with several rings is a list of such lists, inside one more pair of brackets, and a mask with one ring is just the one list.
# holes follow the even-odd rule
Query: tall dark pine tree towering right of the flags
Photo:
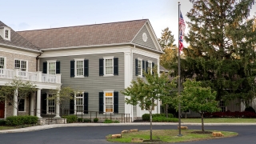
[[[248, 105], [256, 94], [254, 19], [249, 19], [254, 0], [190, 0], [187, 13], [190, 43], [182, 59], [182, 78], [217, 91], [217, 100], [238, 99]], [[177, 72], [177, 70], [176, 70]]]

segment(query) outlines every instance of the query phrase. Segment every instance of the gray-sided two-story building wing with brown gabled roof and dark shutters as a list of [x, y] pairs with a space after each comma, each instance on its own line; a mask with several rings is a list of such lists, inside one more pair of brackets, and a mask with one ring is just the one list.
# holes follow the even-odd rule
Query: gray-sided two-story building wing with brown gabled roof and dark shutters
[[[34, 57], [31, 58], [34, 65], [38, 62], [36, 66], [39, 72], [36, 72], [34, 67], [36, 74], [41, 71], [41, 75], [62, 74], [58, 86], [61, 82], [62, 86], [82, 91], [80, 94], [74, 94], [74, 101], [66, 103], [69, 114], [83, 114], [86, 117], [89, 115], [88, 111], [98, 111], [102, 112], [102, 115], [112, 114], [113, 118], [130, 114], [129, 117], [134, 119], [148, 113], [146, 109], [127, 105], [125, 98], [129, 97], [122, 95], [120, 91], [130, 86], [133, 79], [143, 77], [142, 70], [159, 66], [162, 49], [149, 20], [26, 30], [17, 33], [12, 30], [12, 33], [18, 33], [19, 37], [36, 49]], [[30, 47], [21, 47], [24, 51], [33, 50]], [[26, 57], [21, 58], [23, 59]], [[28, 68], [33, 69], [32, 66]], [[158, 67], [158, 73], [159, 71]], [[56, 86], [51, 86], [53, 84], [55, 83], [48, 82], [46, 86], [54, 89]], [[59, 106], [46, 99], [50, 97], [50, 89], [42, 88], [40, 92], [41, 97], [35, 102], [40, 103], [41, 113], [59, 114], [62, 111]], [[158, 106], [154, 107], [153, 112], [160, 113], [160, 103], [156, 103]]]

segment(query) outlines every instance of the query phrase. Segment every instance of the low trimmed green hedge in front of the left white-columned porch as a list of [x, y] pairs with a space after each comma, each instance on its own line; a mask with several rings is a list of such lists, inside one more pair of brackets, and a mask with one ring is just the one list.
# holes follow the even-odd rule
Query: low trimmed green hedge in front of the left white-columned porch
[[38, 117], [30, 115], [10, 116], [6, 118], [7, 126], [21, 126], [38, 123]]

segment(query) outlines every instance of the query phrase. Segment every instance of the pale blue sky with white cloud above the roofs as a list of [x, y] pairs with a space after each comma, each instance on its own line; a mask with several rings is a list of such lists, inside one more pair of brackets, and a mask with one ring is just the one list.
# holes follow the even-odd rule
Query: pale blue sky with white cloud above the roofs
[[[189, 0], [0, 0], [0, 21], [19, 31], [147, 18], [158, 38], [169, 27], [177, 44], [178, 2], [189, 21]], [[256, 5], [250, 15], [256, 15]]]

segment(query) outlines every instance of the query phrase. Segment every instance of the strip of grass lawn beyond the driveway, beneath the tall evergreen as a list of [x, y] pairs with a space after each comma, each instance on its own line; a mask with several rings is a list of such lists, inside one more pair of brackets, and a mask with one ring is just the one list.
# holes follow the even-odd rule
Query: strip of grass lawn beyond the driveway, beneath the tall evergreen
[[[182, 118], [185, 123], [201, 123], [201, 118]], [[205, 123], [253, 123], [256, 118], [204, 118]]]

